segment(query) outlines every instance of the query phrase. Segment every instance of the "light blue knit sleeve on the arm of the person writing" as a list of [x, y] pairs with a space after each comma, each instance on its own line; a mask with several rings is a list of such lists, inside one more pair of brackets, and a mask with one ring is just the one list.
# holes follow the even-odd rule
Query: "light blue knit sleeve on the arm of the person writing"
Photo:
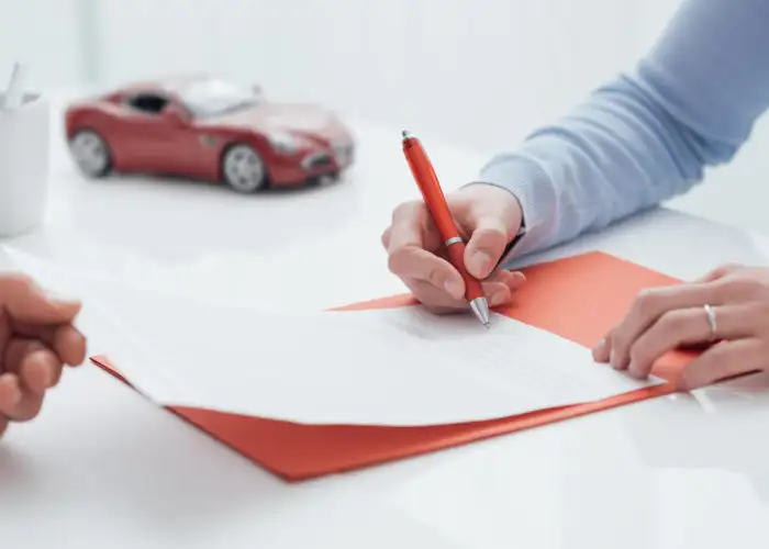
[[521, 202], [520, 257], [689, 190], [767, 108], [769, 0], [686, 0], [634, 70], [493, 157], [478, 181]]

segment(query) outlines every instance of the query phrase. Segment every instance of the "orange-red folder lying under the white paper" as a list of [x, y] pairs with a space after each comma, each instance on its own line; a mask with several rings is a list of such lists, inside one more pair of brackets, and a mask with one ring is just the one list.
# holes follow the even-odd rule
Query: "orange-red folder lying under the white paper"
[[[515, 302], [497, 310], [511, 318], [592, 347], [614, 326], [643, 288], [680, 280], [633, 262], [593, 251], [524, 269], [527, 282]], [[419, 306], [409, 295], [395, 295], [339, 310], [356, 311]], [[354, 313], [350, 313], [354, 314]], [[608, 410], [672, 393], [676, 377], [695, 354], [673, 351], [657, 361], [654, 373], [666, 383], [610, 399], [531, 412], [501, 419], [421, 427], [308, 425], [243, 416], [203, 408], [156, 403], [210, 436], [288, 480], [328, 473], [416, 456], [488, 437]], [[108, 357], [91, 360], [131, 384]]]

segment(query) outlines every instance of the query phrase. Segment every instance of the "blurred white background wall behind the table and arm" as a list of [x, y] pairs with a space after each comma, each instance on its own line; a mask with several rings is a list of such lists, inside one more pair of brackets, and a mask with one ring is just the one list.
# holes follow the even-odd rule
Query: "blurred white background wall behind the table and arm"
[[[0, 70], [20, 53], [44, 88], [213, 70], [491, 154], [627, 68], [677, 4], [0, 0]], [[769, 232], [765, 125], [733, 166], [673, 204]]]

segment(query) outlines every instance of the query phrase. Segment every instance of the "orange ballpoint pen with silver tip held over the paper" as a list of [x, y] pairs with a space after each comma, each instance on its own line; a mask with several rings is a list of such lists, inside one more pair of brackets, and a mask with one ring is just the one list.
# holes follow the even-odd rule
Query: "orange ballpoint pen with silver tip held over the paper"
[[406, 131], [403, 131], [403, 154], [422, 192], [427, 210], [430, 210], [430, 214], [441, 234], [441, 239], [446, 246], [448, 260], [459, 271], [465, 281], [465, 299], [470, 304], [470, 309], [478, 320], [488, 328], [490, 323], [489, 303], [483, 294], [480, 281], [465, 268], [465, 242], [459, 236], [459, 229], [454, 224], [454, 217], [452, 217], [452, 212], [448, 210], [438, 177], [435, 175], [433, 165], [427, 158], [424, 148], [422, 148], [420, 141]]

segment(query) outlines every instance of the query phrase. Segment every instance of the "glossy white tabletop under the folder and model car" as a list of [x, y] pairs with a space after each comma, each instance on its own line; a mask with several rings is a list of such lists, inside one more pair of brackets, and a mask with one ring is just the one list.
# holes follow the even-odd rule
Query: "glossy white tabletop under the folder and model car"
[[[345, 181], [256, 197], [86, 181], [57, 144], [48, 222], [11, 243], [91, 273], [263, 307], [401, 292], [379, 246], [392, 206], [416, 197], [400, 128], [354, 128], [360, 154]], [[425, 146], [448, 187], [486, 160], [432, 138]], [[762, 237], [667, 210], [556, 253], [595, 248], [686, 279], [769, 257]], [[86, 366], [0, 441], [0, 545], [765, 548], [768, 395], [756, 377], [287, 484]]]

